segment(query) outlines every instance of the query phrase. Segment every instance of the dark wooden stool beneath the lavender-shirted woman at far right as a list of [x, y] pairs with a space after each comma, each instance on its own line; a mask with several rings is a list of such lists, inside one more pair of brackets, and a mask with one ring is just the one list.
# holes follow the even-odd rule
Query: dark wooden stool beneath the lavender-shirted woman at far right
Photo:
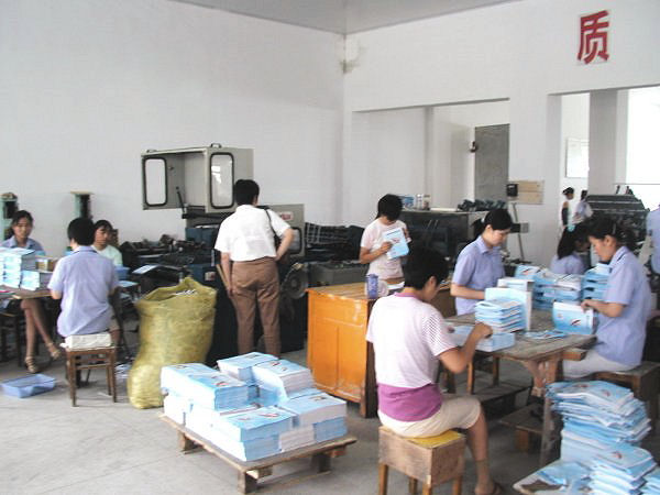
[[656, 433], [658, 421], [658, 393], [660, 392], [660, 363], [642, 361], [642, 363], [625, 372], [598, 372], [594, 380], [625, 385], [632, 391], [635, 397], [647, 403], [651, 420], [651, 433]]

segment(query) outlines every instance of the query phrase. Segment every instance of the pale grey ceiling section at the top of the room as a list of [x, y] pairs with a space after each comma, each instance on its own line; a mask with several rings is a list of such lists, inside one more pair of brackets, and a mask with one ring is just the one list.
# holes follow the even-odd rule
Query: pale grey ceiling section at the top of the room
[[339, 34], [520, 0], [174, 0]]

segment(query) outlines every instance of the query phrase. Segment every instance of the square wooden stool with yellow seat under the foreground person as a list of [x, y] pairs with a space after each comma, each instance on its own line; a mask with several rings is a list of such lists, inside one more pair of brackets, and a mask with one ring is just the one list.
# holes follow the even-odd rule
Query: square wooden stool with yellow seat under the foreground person
[[422, 494], [430, 495], [433, 486], [453, 480], [453, 494], [459, 495], [465, 470], [465, 437], [449, 430], [438, 437], [406, 438], [388, 428], [378, 428], [378, 494], [387, 495], [389, 468], [408, 476], [408, 490], [414, 494], [417, 481], [424, 484]]

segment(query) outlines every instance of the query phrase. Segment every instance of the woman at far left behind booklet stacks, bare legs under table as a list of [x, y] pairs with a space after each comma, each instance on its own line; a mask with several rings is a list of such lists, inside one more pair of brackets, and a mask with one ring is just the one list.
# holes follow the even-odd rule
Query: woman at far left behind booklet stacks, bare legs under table
[[[36, 254], [44, 254], [42, 245], [30, 238], [33, 227], [34, 220], [30, 211], [16, 211], [11, 219], [13, 235], [2, 242], [2, 248], [23, 248], [33, 250]], [[61, 352], [51, 339], [41, 301], [38, 299], [22, 299], [21, 309], [25, 315], [25, 366], [30, 373], [38, 373], [38, 367], [34, 362], [37, 332], [46, 344], [52, 359], [59, 358]]]

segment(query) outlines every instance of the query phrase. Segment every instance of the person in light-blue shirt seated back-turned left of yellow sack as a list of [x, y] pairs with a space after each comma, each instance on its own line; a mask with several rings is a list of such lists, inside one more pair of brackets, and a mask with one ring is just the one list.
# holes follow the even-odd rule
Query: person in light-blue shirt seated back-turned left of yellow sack
[[51, 297], [62, 299], [57, 332], [68, 337], [110, 330], [117, 343], [119, 328], [116, 321], [111, 323], [113, 314], [108, 300], [119, 287], [114, 266], [91, 246], [95, 233], [91, 220], [72, 220], [67, 233], [74, 253], [57, 262], [48, 283]]

